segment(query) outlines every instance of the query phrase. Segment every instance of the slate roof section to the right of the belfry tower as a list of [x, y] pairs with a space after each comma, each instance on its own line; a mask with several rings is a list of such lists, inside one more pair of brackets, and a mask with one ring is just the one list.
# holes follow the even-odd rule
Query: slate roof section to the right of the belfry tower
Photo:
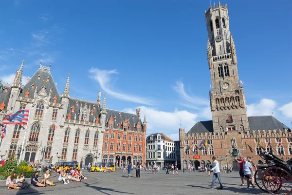
[[289, 129], [286, 125], [280, 122], [274, 116], [254, 116], [248, 117], [250, 130], [274, 130], [274, 129]]

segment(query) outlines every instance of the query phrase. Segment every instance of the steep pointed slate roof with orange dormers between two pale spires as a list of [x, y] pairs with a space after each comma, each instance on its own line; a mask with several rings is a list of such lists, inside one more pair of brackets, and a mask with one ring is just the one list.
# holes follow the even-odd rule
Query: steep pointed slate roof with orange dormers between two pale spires
[[[46, 85], [44, 85], [44, 83]], [[54, 101], [53, 98], [56, 97], [57, 98], [56, 102], [61, 103], [61, 98], [57, 90], [55, 81], [52, 77], [50, 68], [42, 65], [39, 67], [34, 76], [30, 78], [29, 81], [24, 85], [19, 96], [25, 97], [25, 93], [28, 91], [29, 92], [28, 98], [34, 98], [35, 90], [37, 89], [37, 93], [39, 93], [42, 86], [45, 87], [47, 95], [50, 94], [50, 89], [53, 90], [52, 96], [50, 97], [50, 102], [53, 102]]]

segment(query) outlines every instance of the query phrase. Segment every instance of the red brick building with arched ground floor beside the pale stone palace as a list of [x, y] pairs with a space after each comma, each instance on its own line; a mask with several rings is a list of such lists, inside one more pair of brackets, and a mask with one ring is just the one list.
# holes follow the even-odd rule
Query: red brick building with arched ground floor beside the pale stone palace
[[103, 162], [115, 162], [116, 166], [129, 162], [145, 162], [146, 114], [140, 118], [140, 108], [136, 115], [108, 110], [106, 130], [103, 138]]

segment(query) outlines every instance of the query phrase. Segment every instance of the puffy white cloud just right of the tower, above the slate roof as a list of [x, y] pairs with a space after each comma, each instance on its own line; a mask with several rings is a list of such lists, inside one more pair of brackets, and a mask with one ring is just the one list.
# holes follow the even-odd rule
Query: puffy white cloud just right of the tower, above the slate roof
[[276, 102], [273, 99], [263, 98], [259, 103], [253, 103], [247, 106], [248, 116], [272, 115], [276, 109]]

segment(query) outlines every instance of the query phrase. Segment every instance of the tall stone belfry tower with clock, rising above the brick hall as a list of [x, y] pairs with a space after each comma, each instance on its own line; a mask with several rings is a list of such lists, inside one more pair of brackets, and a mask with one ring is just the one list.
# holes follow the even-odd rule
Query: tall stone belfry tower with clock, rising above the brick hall
[[212, 90], [210, 104], [214, 132], [247, 131], [244, 89], [240, 86], [235, 43], [229, 30], [227, 4], [205, 11], [207, 56]]

